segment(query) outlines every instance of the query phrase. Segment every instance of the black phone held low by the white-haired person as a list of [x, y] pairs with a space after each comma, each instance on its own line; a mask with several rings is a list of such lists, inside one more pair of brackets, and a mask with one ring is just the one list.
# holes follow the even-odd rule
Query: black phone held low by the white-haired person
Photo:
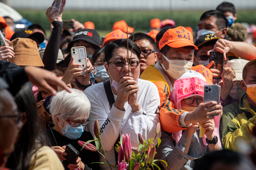
[[68, 168], [69, 164], [76, 164], [76, 160], [78, 159], [79, 152], [76, 151], [76, 149], [71, 144], [66, 145], [65, 152], [67, 153], [67, 155], [64, 156], [66, 160], [63, 160], [62, 164], [65, 167], [65, 169], [69, 169]]

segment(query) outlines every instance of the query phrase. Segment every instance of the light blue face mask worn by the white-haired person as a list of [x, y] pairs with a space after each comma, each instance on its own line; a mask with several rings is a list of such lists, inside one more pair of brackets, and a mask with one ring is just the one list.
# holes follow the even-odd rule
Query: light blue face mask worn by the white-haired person
[[58, 125], [62, 131], [62, 134], [69, 139], [78, 139], [84, 132], [84, 126], [82, 126], [82, 124], [80, 126], [73, 127], [67, 121], [65, 121], [64, 123], [66, 123], [66, 125], [63, 124], [63, 128], [61, 127], [60, 122], [58, 122]]

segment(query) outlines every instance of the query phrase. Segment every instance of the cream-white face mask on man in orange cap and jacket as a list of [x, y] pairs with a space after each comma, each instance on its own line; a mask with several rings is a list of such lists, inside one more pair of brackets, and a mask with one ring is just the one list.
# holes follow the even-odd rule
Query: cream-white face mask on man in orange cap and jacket
[[[164, 54], [163, 54], [164, 56]], [[184, 73], [189, 71], [193, 65], [193, 62], [187, 61], [187, 60], [169, 60], [167, 57], [165, 57], [165, 60], [169, 63], [169, 69], [166, 70], [164, 65], [162, 65], [163, 69], [168, 72], [168, 74], [174, 78], [175, 80], [178, 80]]]

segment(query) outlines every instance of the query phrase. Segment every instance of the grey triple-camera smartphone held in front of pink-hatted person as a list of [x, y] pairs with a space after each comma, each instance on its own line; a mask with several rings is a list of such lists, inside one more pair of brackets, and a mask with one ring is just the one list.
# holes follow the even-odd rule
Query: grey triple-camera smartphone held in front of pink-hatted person
[[[219, 85], [204, 85], [204, 103], [216, 101], [220, 103], [220, 86]], [[219, 109], [213, 109], [210, 112]], [[218, 114], [212, 114], [212, 116], [218, 116]]]

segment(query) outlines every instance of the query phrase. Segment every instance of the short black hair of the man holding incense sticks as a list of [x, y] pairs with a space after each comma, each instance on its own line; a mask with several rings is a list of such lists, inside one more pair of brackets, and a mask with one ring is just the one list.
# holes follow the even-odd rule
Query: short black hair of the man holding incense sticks
[[[140, 47], [136, 43], [133, 43], [132, 47], [132, 40], [130, 39], [128, 39], [128, 47], [130, 51], [132, 50], [132, 53], [137, 55], [140, 61]], [[112, 58], [113, 51], [117, 48], [127, 49], [127, 39], [118, 39], [107, 44], [105, 47], [105, 59], [107, 62]]]

